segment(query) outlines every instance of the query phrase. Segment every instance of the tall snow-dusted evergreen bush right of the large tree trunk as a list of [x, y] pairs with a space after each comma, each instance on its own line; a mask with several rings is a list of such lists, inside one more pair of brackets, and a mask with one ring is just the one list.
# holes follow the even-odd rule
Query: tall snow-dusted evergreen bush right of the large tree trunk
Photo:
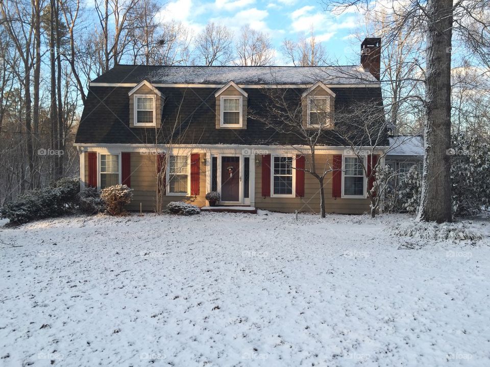
[[455, 216], [490, 208], [490, 146], [478, 137], [453, 136], [451, 191]]

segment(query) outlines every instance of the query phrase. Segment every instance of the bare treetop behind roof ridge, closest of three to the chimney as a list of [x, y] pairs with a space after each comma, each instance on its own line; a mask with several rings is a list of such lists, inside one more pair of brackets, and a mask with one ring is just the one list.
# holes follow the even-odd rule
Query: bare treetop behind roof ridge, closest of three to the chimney
[[285, 39], [282, 52], [295, 66], [324, 65], [327, 56], [326, 49], [317, 41], [313, 29], [309, 37], [301, 35], [297, 41]]

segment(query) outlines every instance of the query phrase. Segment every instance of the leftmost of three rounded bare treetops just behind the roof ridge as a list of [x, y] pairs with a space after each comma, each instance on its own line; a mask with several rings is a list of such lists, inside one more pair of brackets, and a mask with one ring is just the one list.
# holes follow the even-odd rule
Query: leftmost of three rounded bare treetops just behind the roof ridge
[[204, 65], [226, 65], [233, 60], [233, 33], [225, 25], [214, 22], [195, 39], [195, 53]]

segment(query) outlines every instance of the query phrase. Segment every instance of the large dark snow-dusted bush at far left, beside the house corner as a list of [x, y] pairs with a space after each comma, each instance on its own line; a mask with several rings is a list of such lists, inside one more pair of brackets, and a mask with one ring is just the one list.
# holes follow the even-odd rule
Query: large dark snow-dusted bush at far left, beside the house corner
[[6, 203], [0, 209], [0, 216], [18, 224], [58, 217], [74, 206], [79, 185], [78, 179], [61, 178], [46, 188], [30, 190]]

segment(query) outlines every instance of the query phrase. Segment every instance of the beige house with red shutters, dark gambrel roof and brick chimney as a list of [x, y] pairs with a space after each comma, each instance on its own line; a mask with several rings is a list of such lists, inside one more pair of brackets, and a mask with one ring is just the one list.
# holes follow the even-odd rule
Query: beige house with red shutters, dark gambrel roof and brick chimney
[[[361, 65], [117, 65], [89, 85], [75, 140], [82, 186], [126, 184], [130, 209], [146, 211], [156, 195], [205, 206], [205, 194], [217, 191], [221, 205], [317, 212], [318, 181], [301, 170], [311, 163], [305, 139], [254, 118], [274, 111], [274, 91], [300, 106], [305, 132], [321, 126], [315, 165], [334, 169], [325, 178], [327, 212], [366, 212], [372, 182], [337, 134], [338, 116], [356, 103], [382, 109], [379, 53], [380, 39], [368, 38]], [[374, 155], [388, 148], [384, 121], [376, 123]]]

